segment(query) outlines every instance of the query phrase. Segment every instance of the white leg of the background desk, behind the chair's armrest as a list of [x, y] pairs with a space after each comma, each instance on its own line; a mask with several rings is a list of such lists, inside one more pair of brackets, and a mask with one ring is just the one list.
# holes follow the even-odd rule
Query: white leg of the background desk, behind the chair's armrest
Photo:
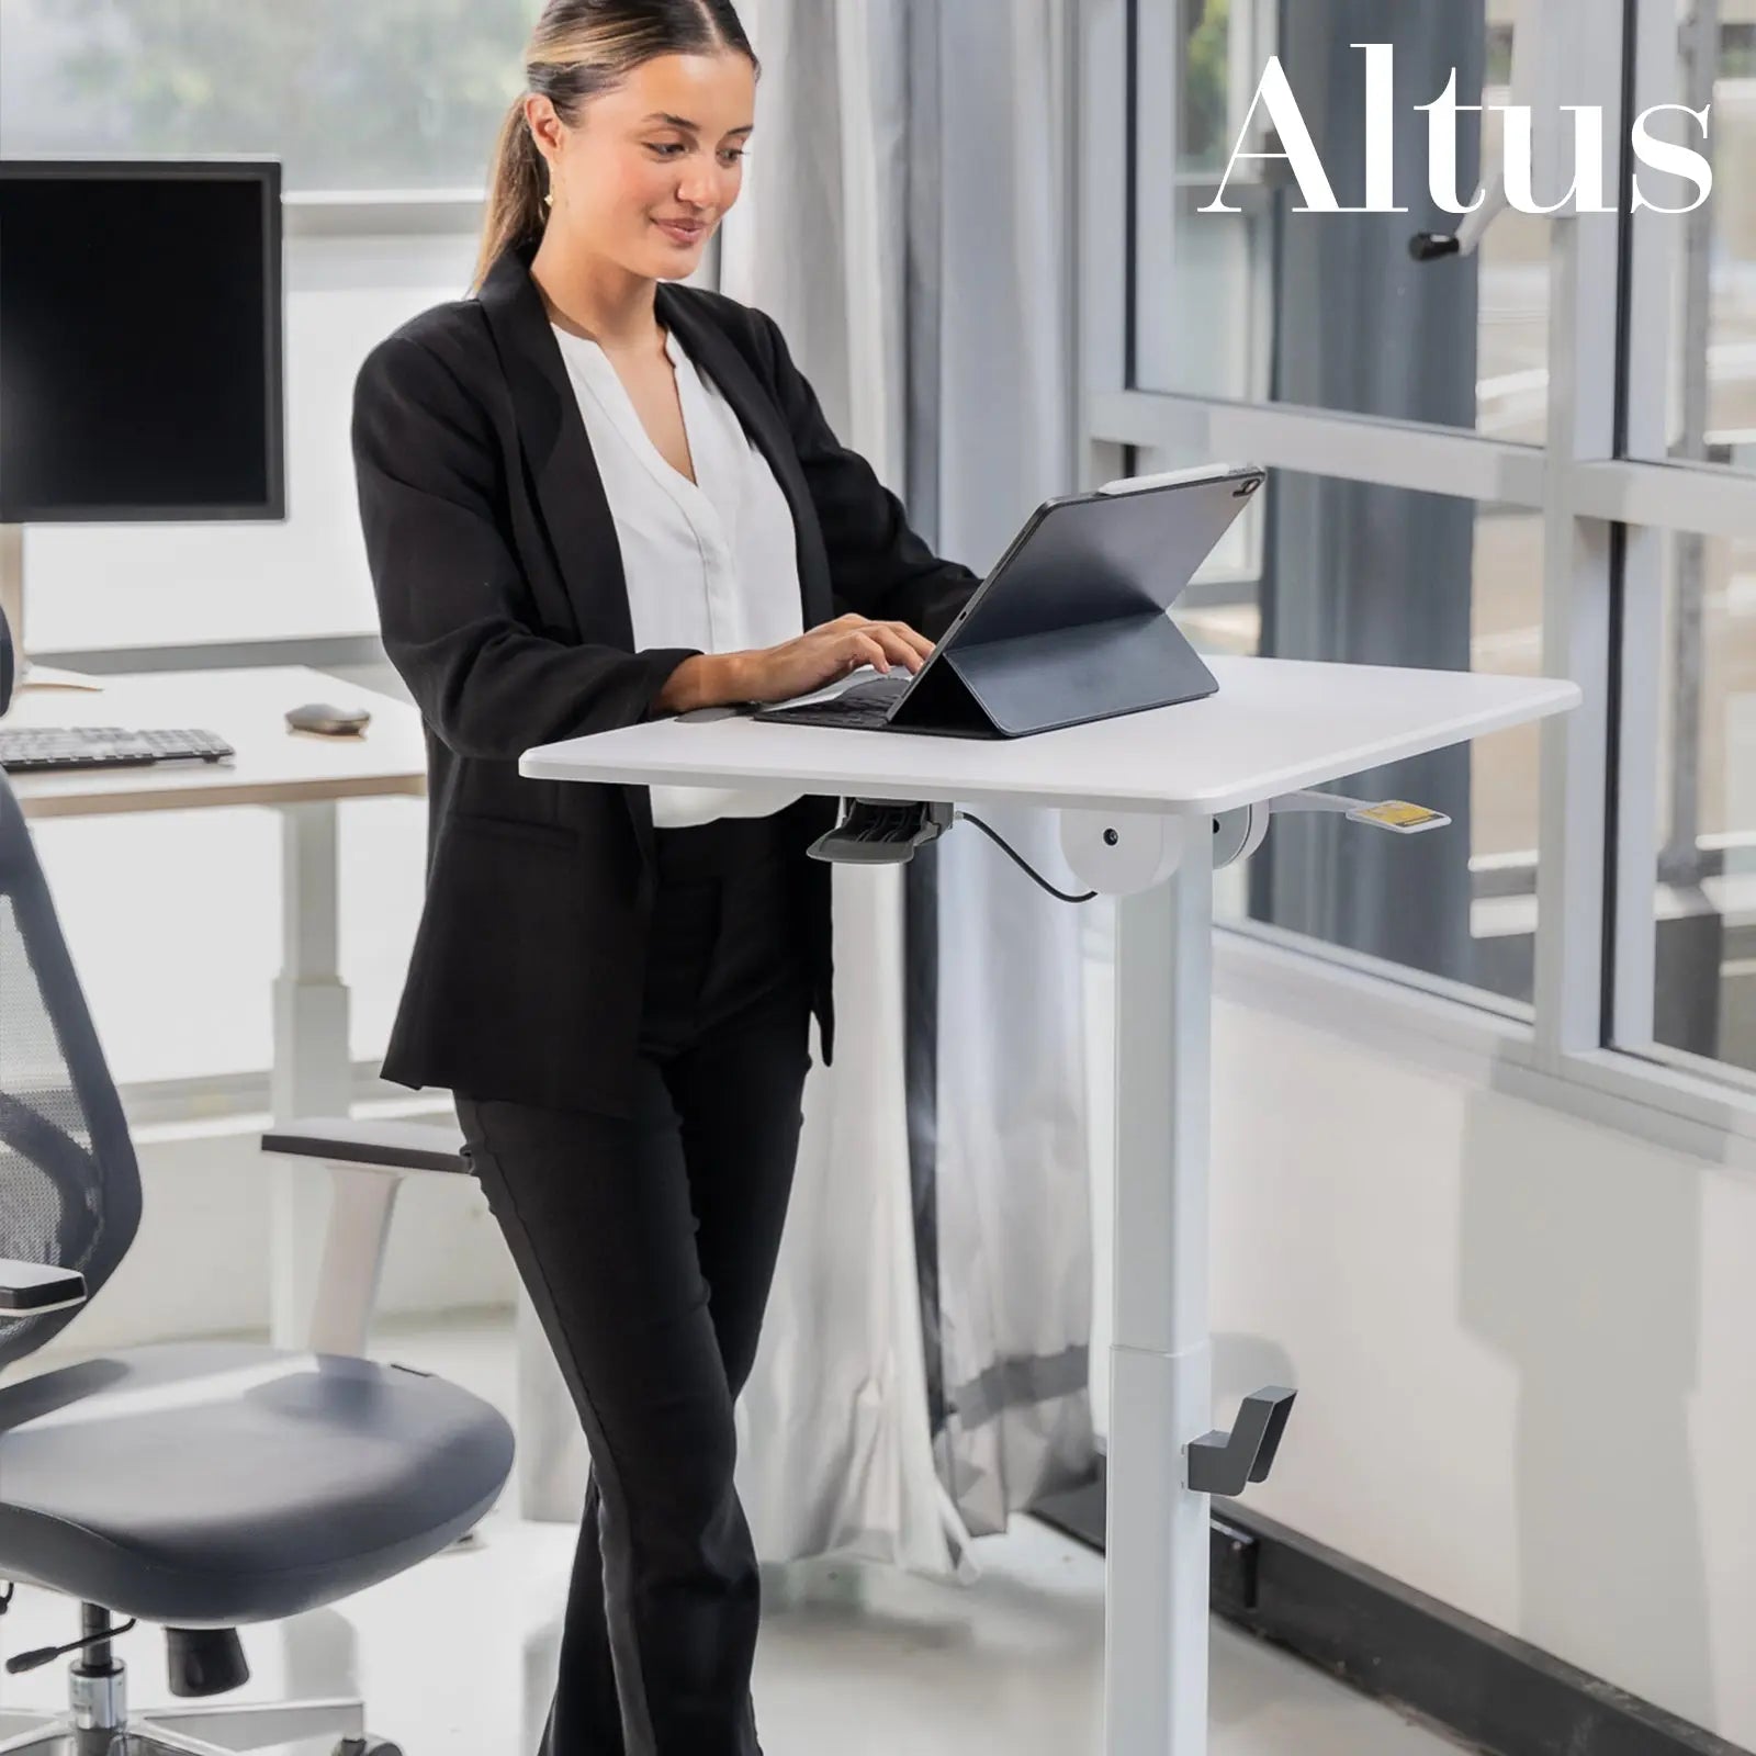
[[[339, 841], [335, 801], [286, 804], [281, 815], [281, 975], [274, 983], [276, 1122], [346, 1115], [353, 1094], [348, 989], [339, 971]], [[304, 1347], [311, 1335], [328, 1217], [328, 1178], [274, 1164], [270, 1336]]]

